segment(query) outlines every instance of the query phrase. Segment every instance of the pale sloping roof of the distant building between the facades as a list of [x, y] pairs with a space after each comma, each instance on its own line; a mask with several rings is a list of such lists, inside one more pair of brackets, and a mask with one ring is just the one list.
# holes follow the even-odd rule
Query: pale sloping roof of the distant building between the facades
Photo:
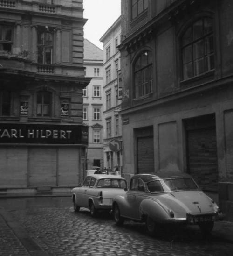
[[85, 60], [103, 60], [103, 50], [94, 43], [84, 38], [84, 61]]

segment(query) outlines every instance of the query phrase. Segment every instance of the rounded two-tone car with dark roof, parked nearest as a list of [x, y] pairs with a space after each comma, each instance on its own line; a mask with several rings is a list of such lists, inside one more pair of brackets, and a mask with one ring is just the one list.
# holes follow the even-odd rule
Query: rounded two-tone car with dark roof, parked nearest
[[117, 225], [125, 219], [145, 222], [151, 235], [157, 225], [169, 223], [197, 224], [209, 233], [222, 218], [217, 204], [182, 172], [135, 175], [129, 191], [113, 200], [112, 209]]

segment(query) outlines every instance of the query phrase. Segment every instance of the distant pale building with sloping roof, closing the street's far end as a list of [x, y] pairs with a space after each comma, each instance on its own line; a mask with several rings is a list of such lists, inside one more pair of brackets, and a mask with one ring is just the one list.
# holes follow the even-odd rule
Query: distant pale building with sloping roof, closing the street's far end
[[83, 89], [83, 123], [89, 127], [86, 169], [103, 168], [103, 50], [84, 39], [84, 66], [89, 85]]

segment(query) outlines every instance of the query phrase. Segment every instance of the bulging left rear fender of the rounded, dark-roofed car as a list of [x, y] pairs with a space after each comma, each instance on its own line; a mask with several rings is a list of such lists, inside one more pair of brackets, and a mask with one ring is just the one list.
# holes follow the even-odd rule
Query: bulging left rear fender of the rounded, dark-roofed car
[[142, 219], [144, 216], [150, 216], [151, 219], [159, 223], [170, 218], [169, 209], [154, 199], [144, 199], [139, 206], [139, 212]]

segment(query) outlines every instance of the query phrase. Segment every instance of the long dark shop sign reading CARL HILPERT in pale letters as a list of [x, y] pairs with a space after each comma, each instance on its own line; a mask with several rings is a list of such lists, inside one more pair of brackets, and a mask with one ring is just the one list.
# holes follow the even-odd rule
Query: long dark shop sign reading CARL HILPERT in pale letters
[[88, 145], [88, 127], [73, 124], [0, 123], [0, 144]]

